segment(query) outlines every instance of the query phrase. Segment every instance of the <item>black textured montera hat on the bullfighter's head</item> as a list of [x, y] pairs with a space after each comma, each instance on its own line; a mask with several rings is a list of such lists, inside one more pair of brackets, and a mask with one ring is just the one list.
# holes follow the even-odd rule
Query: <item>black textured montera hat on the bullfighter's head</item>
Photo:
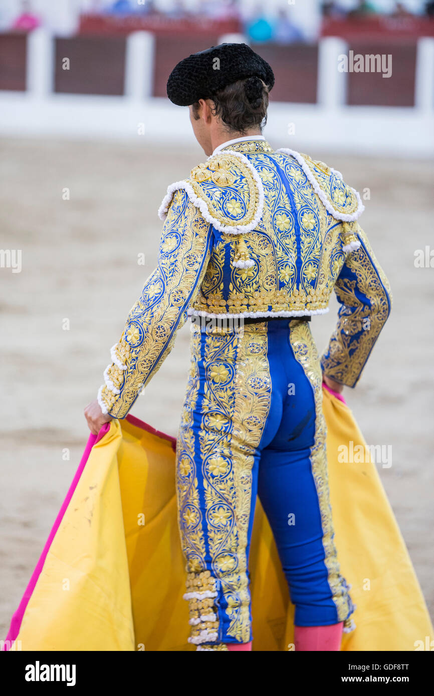
[[246, 77], [261, 78], [269, 90], [274, 85], [270, 65], [247, 44], [220, 44], [180, 61], [167, 80], [167, 96], [189, 106]]

